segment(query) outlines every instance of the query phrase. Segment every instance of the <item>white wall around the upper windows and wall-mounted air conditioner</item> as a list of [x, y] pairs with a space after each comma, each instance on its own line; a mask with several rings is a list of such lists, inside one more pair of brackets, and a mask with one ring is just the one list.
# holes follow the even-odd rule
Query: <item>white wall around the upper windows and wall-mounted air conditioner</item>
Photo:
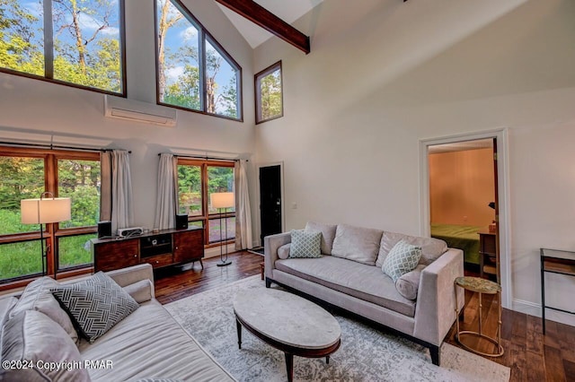
[[[152, 227], [159, 152], [251, 159], [254, 150], [252, 48], [212, 0], [184, 1], [243, 68], [243, 122], [178, 110], [162, 127], [103, 116], [103, 95], [0, 74], [0, 141], [32, 139], [131, 150], [135, 224]], [[128, 98], [155, 103], [154, 2], [126, 1]], [[253, 170], [252, 170], [253, 172]], [[253, 182], [252, 182], [253, 183]]]

